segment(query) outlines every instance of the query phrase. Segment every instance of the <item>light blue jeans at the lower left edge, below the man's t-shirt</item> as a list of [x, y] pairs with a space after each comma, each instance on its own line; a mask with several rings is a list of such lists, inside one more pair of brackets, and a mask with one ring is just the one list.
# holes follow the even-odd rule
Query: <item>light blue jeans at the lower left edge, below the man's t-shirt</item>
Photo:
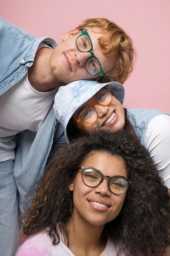
[[0, 162], [0, 255], [14, 256], [20, 246], [18, 192], [14, 159]]

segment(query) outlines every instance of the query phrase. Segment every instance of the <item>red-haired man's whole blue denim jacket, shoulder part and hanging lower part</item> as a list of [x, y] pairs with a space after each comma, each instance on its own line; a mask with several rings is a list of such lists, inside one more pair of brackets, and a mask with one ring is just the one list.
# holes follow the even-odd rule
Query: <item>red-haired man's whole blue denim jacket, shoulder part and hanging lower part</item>
[[[57, 46], [52, 38], [35, 38], [0, 18], [0, 95], [20, 81], [33, 65], [41, 42], [53, 49]], [[25, 130], [17, 134], [14, 177], [20, 202], [23, 202], [26, 191], [41, 177], [53, 141], [57, 141], [59, 148], [65, 139], [64, 128], [55, 121], [51, 106], [38, 132]]]

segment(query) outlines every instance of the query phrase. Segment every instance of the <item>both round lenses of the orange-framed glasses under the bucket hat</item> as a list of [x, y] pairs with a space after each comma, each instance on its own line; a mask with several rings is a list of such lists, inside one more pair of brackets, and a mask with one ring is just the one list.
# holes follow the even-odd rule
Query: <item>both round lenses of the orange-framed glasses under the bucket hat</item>
[[[102, 90], [97, 94], [97, 99], [93, 104], [95, 105], [95, 103], [97, 103], [101, 106], [107, 106], [111, 102], [111, 100], [112, 100], [112, 95], [110, 94], [110, 92], [108, 90]], [[86, 108], [82, 112], [82, 121], [85, 121], [86, 123], [91, 124], [95, 122], [96, 118], [97, 118], [97, 112], [95, 108], [91, 106]]]

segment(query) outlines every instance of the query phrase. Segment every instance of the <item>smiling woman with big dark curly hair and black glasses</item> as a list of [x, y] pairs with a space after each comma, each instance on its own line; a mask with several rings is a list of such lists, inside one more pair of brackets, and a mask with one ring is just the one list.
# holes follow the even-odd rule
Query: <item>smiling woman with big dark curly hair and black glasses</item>
[[92, 132], [46, 167], [16, 256], [162, 256], [170, 196], [148, 151], [125, 131]]

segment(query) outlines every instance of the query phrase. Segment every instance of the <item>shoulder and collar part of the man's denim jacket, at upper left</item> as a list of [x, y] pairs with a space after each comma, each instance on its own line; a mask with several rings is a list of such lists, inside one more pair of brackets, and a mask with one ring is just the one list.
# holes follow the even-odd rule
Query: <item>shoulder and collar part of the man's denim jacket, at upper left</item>
[[0, 18], [0, 95], [26, 74], [42, 42], [53, 49], [57, 46], [52, 38], [36, 38]]

